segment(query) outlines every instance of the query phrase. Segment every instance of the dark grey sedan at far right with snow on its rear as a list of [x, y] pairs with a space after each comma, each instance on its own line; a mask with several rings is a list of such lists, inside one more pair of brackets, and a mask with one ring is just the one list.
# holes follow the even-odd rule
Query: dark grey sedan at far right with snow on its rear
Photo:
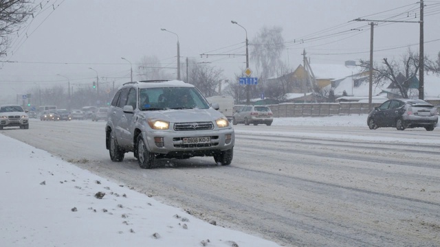
[[395, 127], [397, 130], [423, 127], [434, 130], [439, 121], [437, 108], [421, 99], [389, 99], [371, 111], [366, 119], [371, 130]]

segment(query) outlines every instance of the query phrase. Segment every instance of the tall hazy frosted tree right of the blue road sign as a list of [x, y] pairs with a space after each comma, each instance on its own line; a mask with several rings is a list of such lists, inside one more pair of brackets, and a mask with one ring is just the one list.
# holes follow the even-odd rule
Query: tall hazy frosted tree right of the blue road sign
[[263, 27], [252, 40], [251, 59], [256, 62], [256, 70], [263, 79], [275, 75], [276, 69], [283, 64], [281, 54], [284, 51], [282, 27]]

